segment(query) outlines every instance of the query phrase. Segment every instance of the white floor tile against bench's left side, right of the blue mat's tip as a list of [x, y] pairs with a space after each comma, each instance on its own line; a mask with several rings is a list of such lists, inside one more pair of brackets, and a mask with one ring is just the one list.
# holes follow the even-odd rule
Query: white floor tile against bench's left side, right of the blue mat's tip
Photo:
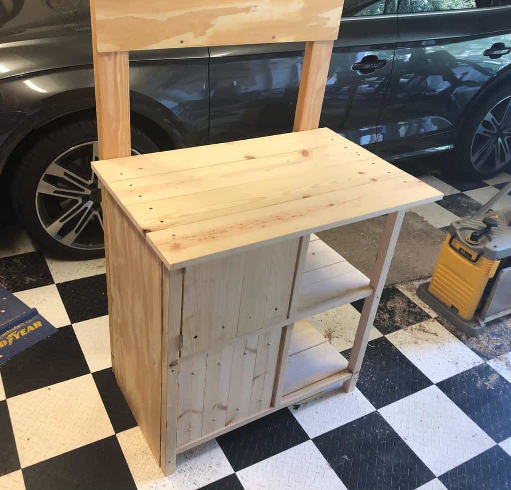
[[90, 371], [111, 367], [108, 315], [74, 323], [73, 329]]

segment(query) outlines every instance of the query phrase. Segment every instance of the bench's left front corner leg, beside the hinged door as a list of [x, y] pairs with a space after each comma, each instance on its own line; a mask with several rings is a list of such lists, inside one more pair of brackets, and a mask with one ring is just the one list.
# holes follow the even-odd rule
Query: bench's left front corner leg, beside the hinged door
[[179, 338], [181, 334], [182, 270], [162, 265], [161, 455], [165, 474], [176, 469], [176, 433], [179, 390]]

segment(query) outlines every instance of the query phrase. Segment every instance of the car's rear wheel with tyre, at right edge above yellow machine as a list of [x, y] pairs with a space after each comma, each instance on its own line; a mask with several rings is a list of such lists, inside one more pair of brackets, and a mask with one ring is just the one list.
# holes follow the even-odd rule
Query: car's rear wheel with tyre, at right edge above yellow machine
[[457, 174], [491, 178], [511, 167], [511, 89], [503, 85], [466, 117], [455, 143]]

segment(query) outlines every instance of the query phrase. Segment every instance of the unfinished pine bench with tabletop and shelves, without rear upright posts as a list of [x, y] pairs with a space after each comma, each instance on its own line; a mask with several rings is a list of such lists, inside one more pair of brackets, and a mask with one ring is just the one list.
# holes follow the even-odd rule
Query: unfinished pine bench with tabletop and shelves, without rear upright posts
[[[94, 162], [112, 366], [175, 454], [355, 386], [406, 209], [442, 195], [330, 129]], [[388, 214], [368, 278], [315, 235]], [[348, 363], [306, 318], [367, 298]]]

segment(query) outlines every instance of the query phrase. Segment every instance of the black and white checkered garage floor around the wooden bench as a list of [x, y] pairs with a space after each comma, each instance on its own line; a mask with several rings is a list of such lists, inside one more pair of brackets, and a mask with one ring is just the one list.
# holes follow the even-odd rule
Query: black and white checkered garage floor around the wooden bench
[[[442, 228], [511, 175], [424, 180], [446, 197], [415, 211]], [[388, 287], [355, 392], [223, 435], [165, 478], [111, 374], [104, 261], [46, 258], [20, 232], [0, 245], [0, 284], [58, 327], [0, 367], [1, 490], [511, 489], [510, 318], [467, 339], [422, 304], [417, 282]], [[359, 310], [311, 322], [349, 357]]]

